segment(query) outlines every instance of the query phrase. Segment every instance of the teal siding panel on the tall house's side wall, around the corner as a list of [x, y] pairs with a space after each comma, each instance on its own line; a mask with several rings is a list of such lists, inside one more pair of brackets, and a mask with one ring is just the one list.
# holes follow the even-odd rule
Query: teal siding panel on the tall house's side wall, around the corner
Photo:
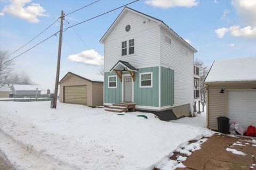
[[161, 106], [174, 104], [174, 70], [161, 67]]

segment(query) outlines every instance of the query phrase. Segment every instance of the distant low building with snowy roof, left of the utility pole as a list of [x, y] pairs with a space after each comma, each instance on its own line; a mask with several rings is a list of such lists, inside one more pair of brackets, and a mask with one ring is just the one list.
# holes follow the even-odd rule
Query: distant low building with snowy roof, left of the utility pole
[[43, 89], [39, 85], [13, 84], [11, 90], [14, 96], [36, 96], [41, 95]]

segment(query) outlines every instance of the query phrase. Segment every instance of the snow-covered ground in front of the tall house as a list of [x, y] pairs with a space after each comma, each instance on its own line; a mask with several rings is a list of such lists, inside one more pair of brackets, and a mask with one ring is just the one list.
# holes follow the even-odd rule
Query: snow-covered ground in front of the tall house
[[0, 101], [0, 155], [16, 169], [153, 169], [189, 140], [212, 135], [188, 118], [173, 123], [150, 113], [124, 114]]

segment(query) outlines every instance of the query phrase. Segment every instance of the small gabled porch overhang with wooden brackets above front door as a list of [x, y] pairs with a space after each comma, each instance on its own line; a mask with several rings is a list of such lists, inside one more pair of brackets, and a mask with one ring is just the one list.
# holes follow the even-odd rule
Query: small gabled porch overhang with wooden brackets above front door
[[110, 70], [110, 72], [114, 71], [116, 75], [119, 77], [122, 82], [122, 74], [124, 71], [129, 72], [132, 77], [132, 80], [135, 81], [135, 72], [138, 72], [138, 69], [134, 67], [129, 62], [119, 60]]

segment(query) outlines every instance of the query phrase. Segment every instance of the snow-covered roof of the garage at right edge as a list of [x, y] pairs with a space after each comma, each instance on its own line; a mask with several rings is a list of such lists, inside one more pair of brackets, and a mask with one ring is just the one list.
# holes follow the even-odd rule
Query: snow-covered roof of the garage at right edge
[[215, 61], [205, 82], [256, 81], [256, 57]]

